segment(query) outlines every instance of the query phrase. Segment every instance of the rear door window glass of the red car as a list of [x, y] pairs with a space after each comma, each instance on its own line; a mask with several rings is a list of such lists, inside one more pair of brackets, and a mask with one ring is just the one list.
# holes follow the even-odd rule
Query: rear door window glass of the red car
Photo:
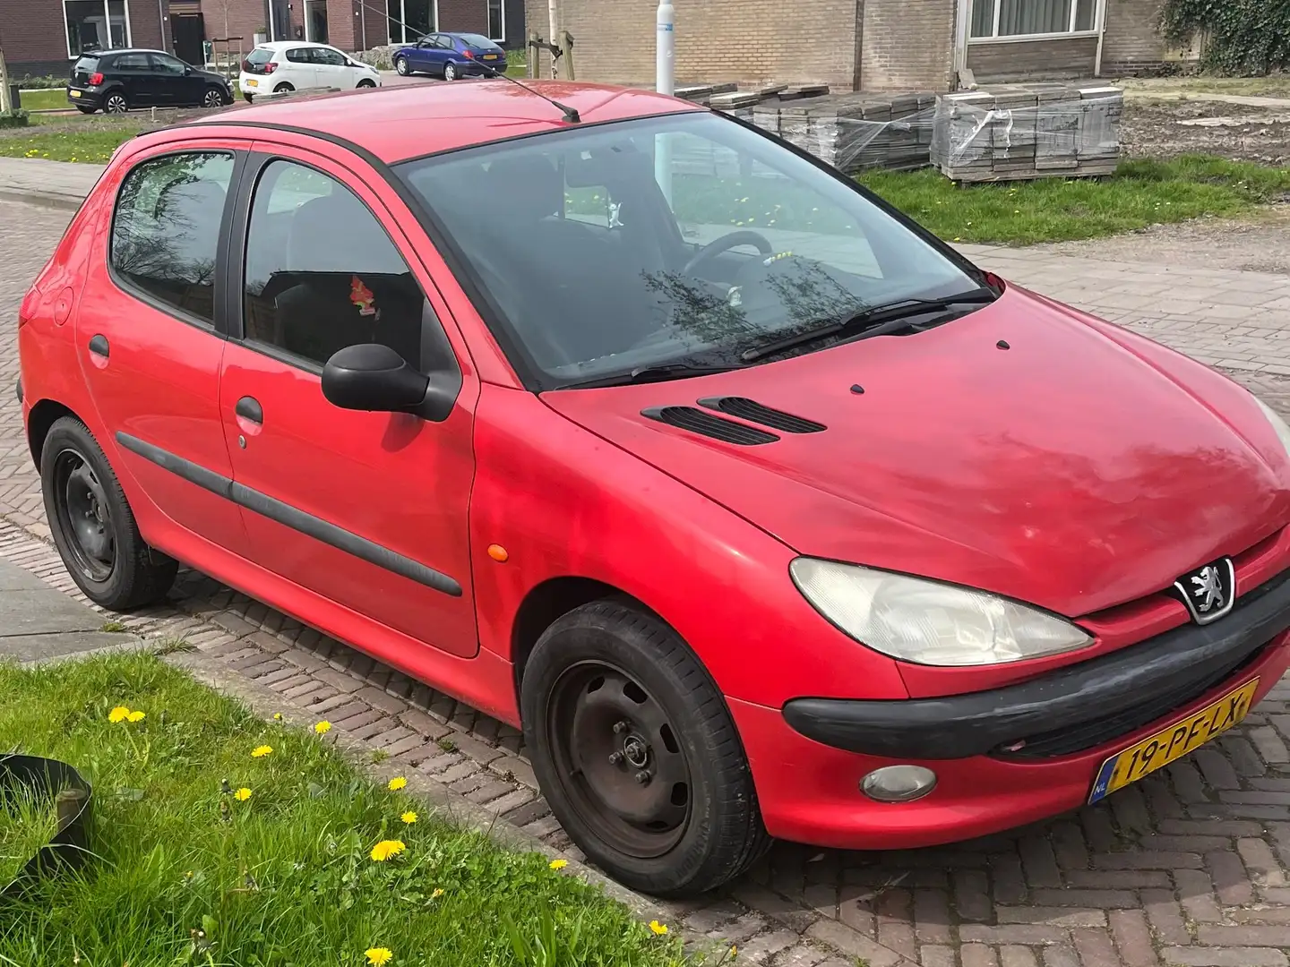
[[224, 152], [166, 155], [121, 183], [111, 266], [126, 288], [194, 320], [215, 320], [215, 253], [233, 173]]

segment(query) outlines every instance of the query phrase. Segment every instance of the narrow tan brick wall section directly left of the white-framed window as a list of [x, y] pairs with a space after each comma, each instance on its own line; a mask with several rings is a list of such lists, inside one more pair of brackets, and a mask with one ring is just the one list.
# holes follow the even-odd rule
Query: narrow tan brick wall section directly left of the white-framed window
[[864, 0], [862, 90], [949, 90], [955, 0]]

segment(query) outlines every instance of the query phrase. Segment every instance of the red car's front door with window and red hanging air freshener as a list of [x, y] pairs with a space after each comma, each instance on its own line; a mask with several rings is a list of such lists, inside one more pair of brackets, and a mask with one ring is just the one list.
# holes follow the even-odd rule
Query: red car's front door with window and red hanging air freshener
[[248, 236], [230, 248], [245, 253], [243, 338], [230, 339], [219, 388], [253, 560], [387, 628], [473, 655], [477, 383], [441, 423], [341, 410], [320, 384], [334, 352], [366, 342], [423, 371], [432, 360], [464, 369], [439, 322], [446, 308], [406, 237], [383, 227], [397, 223], [364, 178], [311, 152], [257, 150], [272, 156], [253, 155], [253, 193], [239, 200]]

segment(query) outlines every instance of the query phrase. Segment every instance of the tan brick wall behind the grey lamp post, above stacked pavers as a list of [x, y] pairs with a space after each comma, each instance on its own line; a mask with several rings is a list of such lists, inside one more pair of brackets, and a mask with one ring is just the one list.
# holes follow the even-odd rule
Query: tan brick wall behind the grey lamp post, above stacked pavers
[[[578, 79], [653, 84], [657, 6], [657, 0], [560, 0]], [[550, 32], [544, 0], [526, 0], [525, 18], [543, 37]], [[849, 90], [855, 23], [857, 0], [685, 0], [676, 13], [676, 81], [824, 81]]]

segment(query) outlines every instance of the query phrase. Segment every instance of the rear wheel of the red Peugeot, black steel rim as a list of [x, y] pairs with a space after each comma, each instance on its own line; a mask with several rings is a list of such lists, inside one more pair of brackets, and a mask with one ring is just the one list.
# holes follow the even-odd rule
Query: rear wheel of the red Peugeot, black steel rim
[[179, 565], [148, 548], [107, 458], [75, 416], [49, 428], [40, 487], [58, 554], [85, 597], [112, 611], [165, 598]]

